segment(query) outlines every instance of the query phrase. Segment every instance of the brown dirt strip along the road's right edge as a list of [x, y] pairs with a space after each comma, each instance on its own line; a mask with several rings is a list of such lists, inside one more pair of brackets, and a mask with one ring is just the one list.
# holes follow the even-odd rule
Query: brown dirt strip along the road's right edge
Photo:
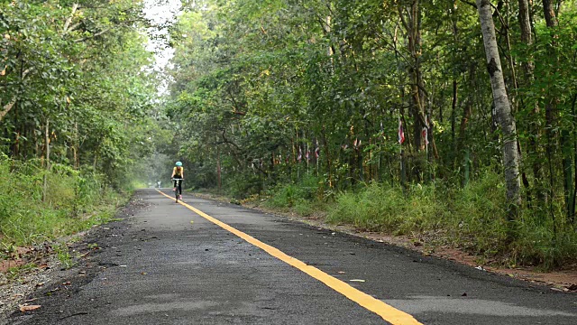
[[[230, 199], [223, 196], [215, 196], [210, 194], [195, 193], [198, 198], [206, 200], [217, 200], [223, 202], [230, 202]], [[237, 201], [234, 202], [237, 204]], [[487, 261], [480, 255], [472, 255], [463, 249], [446, 246], [436, 243], [434, 240], [429, 240], [426, 236], [410, 237], [410, 236], [392, 236], [387, 234], [380, 234], [370, 231], [364, 231], [359, 228], [354, 228], [350, 225], [331, 225], [325, 222], [325, 214], [316, 212], [310, 217], [299, 216], [294, 212], [280, 211], [276, 209], [263, 208], [258, 201], [243, 202], [243, 207], [249, 209], [257, 209], [262, 212], [274, 213], [275, 215], [283, 216], [291, 220], [304, 222], [310, 226], [317, 228], [325, 228], [333, 231], [342, 232], [345, 234], [364, 237], [380, 243], [387, 243], [395, 246], [402, 246], [423, 255], [431, 255], [447, 260], [454, 261], [463, 265], [470, 265], [477, 269], [491, 272], [495, 274], [502, 274], [519, 280], [539, 283], [550, 286], [552, 290], [562, 292], [577, 292], [577, 265], [565, 265], [562, 270], [543, 272], [536, 267], [516, 267], [509, 268], [495, 265], [495, 261]], [[484, 261], [484, 262], [481, 262]]]

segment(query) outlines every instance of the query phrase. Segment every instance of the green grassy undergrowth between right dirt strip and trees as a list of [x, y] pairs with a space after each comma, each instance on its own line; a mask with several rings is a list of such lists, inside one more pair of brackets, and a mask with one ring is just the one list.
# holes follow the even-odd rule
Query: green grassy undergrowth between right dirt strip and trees
[[[406, 188], [373, 181], [340, 193], [311, 186], [315, 178], [270, 190], [264, 203], [301, 216], [325, 211], [331, 224], [351, 225], [393, 236], [425, 237], [508, 267], [536, 266], [550, 271], [577, 261], [577, 232], [551, 207], [521, 209], [508, 221], [502, 177], [487, 172], [464, 188], [444, 181]], [[553, 202], [553, 209], [563, 207]]]

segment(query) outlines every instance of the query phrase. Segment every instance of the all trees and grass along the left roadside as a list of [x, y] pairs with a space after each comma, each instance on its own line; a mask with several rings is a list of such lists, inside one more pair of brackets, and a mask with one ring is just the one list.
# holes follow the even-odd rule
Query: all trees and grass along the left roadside
[[140, 177], [162, 138], [147, 25], [140, 1], [0, 1], [3, 242], [78, 230]]

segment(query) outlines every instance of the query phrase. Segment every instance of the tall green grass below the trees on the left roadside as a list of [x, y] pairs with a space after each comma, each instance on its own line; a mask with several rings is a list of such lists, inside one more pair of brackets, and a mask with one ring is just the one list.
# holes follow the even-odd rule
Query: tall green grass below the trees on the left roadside
[[[47, 191], [42, 200], [43, 181]], [[102, 176], [63, 165], [46, 172], [38, 162], [0, 157], [0, 235], [4, 246], [29, 246], [75, 234], [114, 218], [124, 204]]]

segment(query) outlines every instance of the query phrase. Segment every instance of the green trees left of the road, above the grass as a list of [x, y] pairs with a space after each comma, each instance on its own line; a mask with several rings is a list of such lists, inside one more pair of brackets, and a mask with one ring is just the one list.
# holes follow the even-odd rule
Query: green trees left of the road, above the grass
[[3, 153], [91, 166], [118, 181], [151, 150], [155, 128], [142, 4], [3, 1], [0, 9]]

